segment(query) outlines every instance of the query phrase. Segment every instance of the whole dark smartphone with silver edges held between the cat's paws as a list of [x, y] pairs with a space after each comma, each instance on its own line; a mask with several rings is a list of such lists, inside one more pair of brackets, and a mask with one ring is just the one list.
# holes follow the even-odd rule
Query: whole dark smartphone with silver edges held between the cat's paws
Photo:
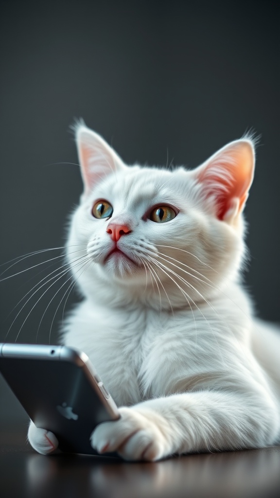
[[118, 408], [85, 353], [66, 346], [0, 343], [0, 373], [34, 422], [59, 449], [97, 455], [90, 435]]

